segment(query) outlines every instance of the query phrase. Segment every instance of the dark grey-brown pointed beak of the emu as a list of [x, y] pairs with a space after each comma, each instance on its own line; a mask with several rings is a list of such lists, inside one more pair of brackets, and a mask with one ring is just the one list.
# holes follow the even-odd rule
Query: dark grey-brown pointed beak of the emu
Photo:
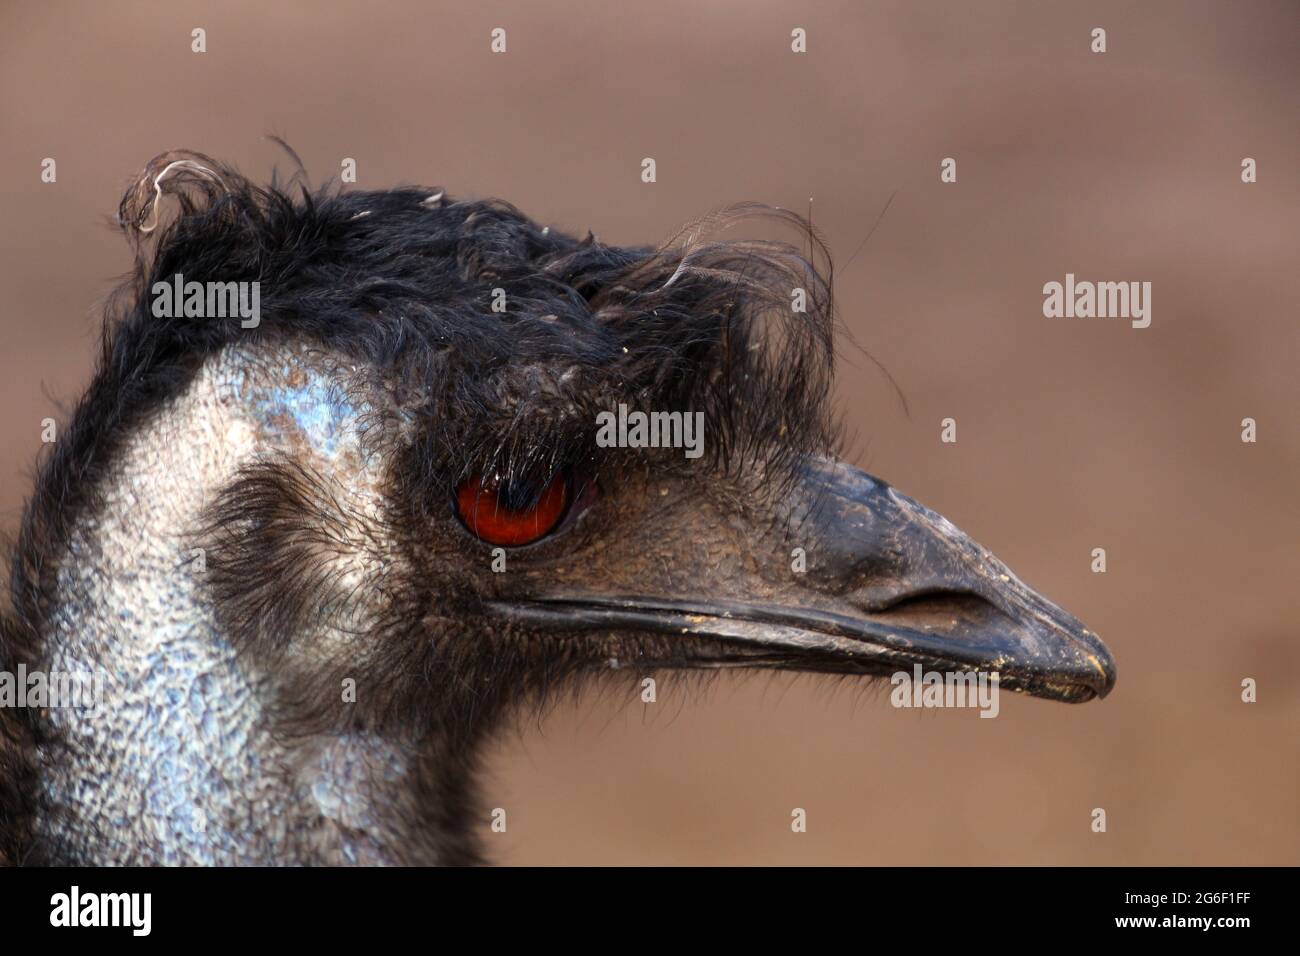
[[[1115, 663], [1101, 640], [1030, 589], [987, 549], [884, 481], [840, 462], [805, 468], [785, 555], [740, 600], [547, 593], [498, 604], [564, 631], [677, 635], [684, 657], [646, 666], [774, 667], [831, 674], [997, 674], [1005, 689], [1083, 702], [1105, 697]], [[802, 540], [802, 544], [801, 544]], [[698, 648], [692, 650], [692, 639]]]

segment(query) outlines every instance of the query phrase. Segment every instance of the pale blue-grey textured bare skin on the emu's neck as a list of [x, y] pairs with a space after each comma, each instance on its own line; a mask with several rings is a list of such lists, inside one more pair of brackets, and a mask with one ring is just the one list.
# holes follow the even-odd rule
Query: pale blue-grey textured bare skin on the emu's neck
[[[268, 454], [337, 475], [350, 520], [376, 514], [381, 462], [358, 394], [355, 371], [320, 354], [228, 350], [114, 463], [103, 506], [60, 561], [46, 635], [48, 670], [104, 679], [96, 709], [49, 711], [62, 743], [38, 752], [36, 836], [53, 858], [377, 864], [408, 852], [413, 754], [369, 735], [277, 735], [269, 678], [222, 635], [204, 601], [205, 555], [188, 546], [212, 497]], [[367, 531], [332, 557], [342, 572], [387, 559]], [[364, 630], [367, 613], [350, 607], [348, 630]], [[321, 627], [296, 643], [346, 654], [346, 640]]]

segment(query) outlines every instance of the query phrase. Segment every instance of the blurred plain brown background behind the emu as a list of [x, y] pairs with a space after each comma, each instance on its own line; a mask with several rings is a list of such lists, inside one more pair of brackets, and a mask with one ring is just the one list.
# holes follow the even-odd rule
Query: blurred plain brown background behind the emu
[[[277, 133], [317, 181], [351, 156], [360, 189], [620, 243], [812, 196], [844, 321], [910, 403], [845, 355], [857, 463], [1098, 631], [1118, 687], [996, 721], [814, 679], [582, 700], [495, 749], [495, 858], [1295, 864], [1297, 64], [1294, 3], [5, 3], [0, 523], [127, 268], [104, 220], [162, 150], [263, 177]], [[1150, 281], [1150, 328], [1044, 319], [1066, 272]]]

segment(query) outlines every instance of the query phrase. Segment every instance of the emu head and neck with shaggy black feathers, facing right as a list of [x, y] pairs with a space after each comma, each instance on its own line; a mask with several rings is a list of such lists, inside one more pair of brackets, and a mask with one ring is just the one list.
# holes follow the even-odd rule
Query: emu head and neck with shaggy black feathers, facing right
[[[751, 216], [811, 252], [715, 238]], [[1114, 683], [1079, 620], [838, 460], [829, 269], [792, 213], [624, 248], [172, 152], [118, 220], [136, 267], [0, 618], [0, 670], [104, 700], [0, 709], [9, 862], [478, 862], [482, 741], [602, 676]], [[156, 315], [176, 276], [259, 284], [260, 321]], [[702, 454], [598, 444], [620, 406], [702, 414]]]

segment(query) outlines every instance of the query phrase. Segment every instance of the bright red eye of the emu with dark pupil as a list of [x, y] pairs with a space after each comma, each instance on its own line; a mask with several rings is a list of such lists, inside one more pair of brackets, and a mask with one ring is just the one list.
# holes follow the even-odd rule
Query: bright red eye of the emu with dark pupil
[[554, 531], [568, 498], [569, 483], [563, 472], [552, 475], [541, 490], [529, 483], [472, 477], [456, 489], [456, 512], [488, 544], [517, 548]]

